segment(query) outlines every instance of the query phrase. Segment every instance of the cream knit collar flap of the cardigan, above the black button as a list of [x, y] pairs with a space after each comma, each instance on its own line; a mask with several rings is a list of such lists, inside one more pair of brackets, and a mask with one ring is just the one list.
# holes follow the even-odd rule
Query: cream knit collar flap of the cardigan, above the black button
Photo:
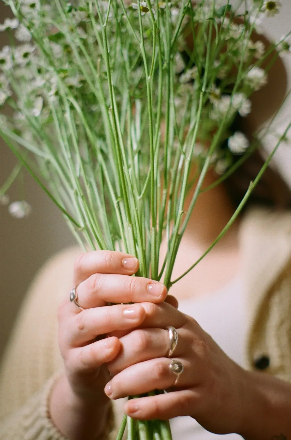
[[249, 322], [291, 259], [291, 212], [253, 208], [241, 221], [242, 271], [248, 295]]

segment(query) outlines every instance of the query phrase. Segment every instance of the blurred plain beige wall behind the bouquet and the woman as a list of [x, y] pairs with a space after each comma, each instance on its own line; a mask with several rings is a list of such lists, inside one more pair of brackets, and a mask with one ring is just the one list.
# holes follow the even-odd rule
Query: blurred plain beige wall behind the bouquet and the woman
[[[291, 1], [282, 0], [282, 12], [275, 18], [266, 19], [263, 26], [269, 37], [275, 40], [291, 30]], [[9, 8], [0, 0], [0, 23], [9, 16]], [[10, 15], [11, 16], [11, 15]], [[7, 44], [4, 33], [0, 33], [0, 48]], [[291, 84], [291, 55], [285, 64]], [[291, 117], [289, 101], [282, 118]], [[16, 163], [13, 154], [0, 140], [0, 186]], [[291, 183], [291, 145], [278, 152], [277, 164]], [[10, 333], [16, 313], [30, 281], [42, 264], [58, 250], [75, 244], [65, 220], [53, 202], [37, 186], [27, 172], [9, 190], [11, 201], [27, 200], [32, 205], [28, 218], [17, 220], [0, 206], [0, 356]], [[24, 191], [24, 193], [23, 193]], [[52, 280], [53, 288], [53, 280]]]

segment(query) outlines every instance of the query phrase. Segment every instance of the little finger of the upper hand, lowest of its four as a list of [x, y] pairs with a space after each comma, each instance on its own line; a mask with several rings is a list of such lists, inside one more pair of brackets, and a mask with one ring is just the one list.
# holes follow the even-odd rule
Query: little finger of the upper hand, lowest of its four
[[107, 337], [84, 347], [72, 348], [67, 363], [79, 373], [90, 373], [114, 359], [120, 348], [117, 337]]

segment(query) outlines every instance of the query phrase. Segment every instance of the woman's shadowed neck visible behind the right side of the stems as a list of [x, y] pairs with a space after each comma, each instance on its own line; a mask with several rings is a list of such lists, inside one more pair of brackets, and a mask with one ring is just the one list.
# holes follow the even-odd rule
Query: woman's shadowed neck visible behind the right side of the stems
[[[206, 173], [202, 188], [206, 188], [217, 180], [212, 170]], [[185, 201], [185, 210], [190, 205], [195, 185]], [[199, 249], [207, 249], [225, 227], [234, 213], [234, 207], [223, 184], [198, 196], [190, 216], [183, 239], [191, 241]], [[236, 244], [238, 220], [226, 232], [214, 249], [222, 249]]]

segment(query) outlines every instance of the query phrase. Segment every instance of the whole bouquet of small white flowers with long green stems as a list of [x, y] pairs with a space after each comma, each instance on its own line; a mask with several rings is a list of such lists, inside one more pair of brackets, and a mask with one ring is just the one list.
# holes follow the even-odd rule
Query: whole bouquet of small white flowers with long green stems
[[[278, 53], [290, 51], [289, 34], [269, 47], [253, 39], [280, 1], [3, 1], [15, 18], [0, 25], [11, 36], [0, 51], [0, 135], [19, 165], [2, 203], [25, 166], [85, 250], [125, 250], [140, 261], [137, 276], [169, 290], [234, 222], [291, 126], [216, 241], [173, 280], [199, 194], [230, 176], [271, 126], [252, 142], [231, 129], [251, 112]], [[202, 189], [209, 167], [217, 180]], [[30, 208], [9, 209], [21, 217]], [[165, 422], [128, 417], [128, 428], [129, 438], [171, 438]]]

